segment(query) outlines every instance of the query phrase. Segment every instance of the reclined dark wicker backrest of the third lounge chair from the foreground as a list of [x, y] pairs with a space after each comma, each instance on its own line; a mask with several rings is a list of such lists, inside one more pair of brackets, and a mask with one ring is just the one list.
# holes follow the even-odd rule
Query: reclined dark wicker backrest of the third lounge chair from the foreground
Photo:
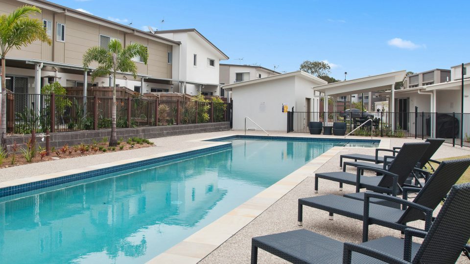
[[[388, 166], [388, 171], [398, 175], [398, 184], [403, 185], [406, 178], [410, 175], [413, 168], [419, 162], [421, 156], [431, 143], [429, 142], [413, 142], [404, 143], [399, 153]], [[378, 186], [392, 188], [393, 181], [391, 177], [383, 177]]]

